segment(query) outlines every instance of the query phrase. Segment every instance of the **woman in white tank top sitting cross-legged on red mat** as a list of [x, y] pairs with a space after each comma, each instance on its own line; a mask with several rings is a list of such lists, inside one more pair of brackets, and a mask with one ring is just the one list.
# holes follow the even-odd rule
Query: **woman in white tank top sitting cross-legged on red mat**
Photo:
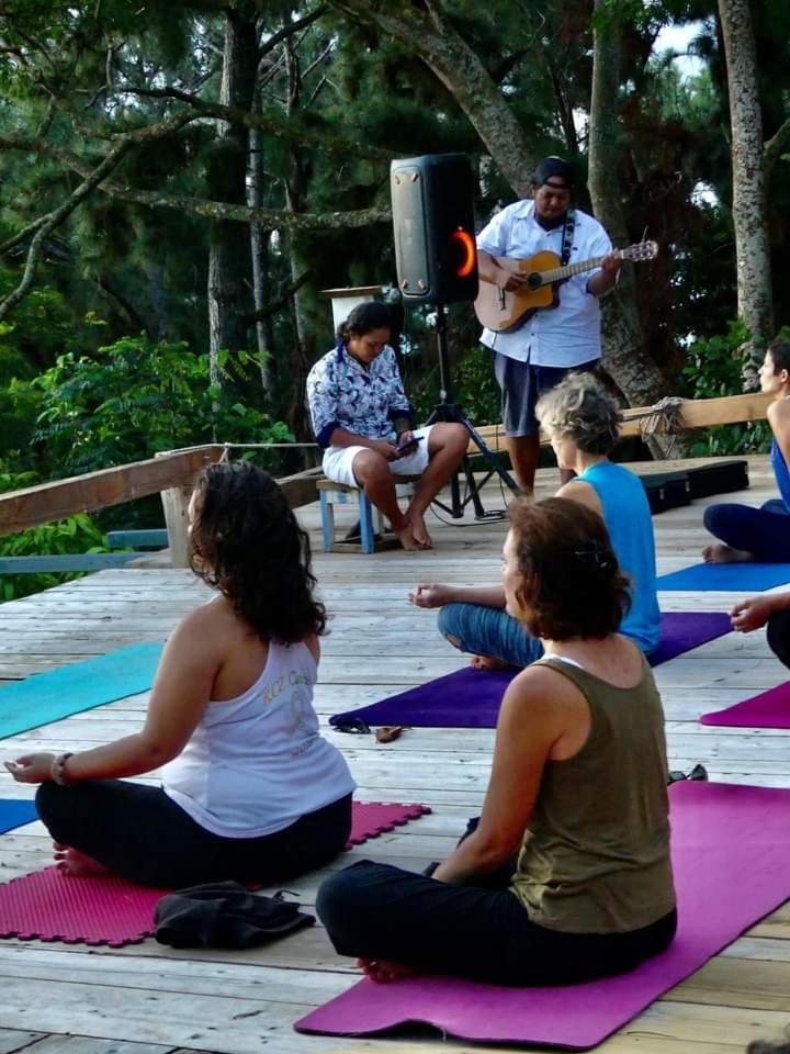
[[[192, 567], [217, 590], [167, 642], [139, 732], [5, 767], [69, 874], [160, 888], [268, 883], [345, 846], [354, 784], [321, 738], [313, 685], [324, 606], [285, 495], [246, 462], [211, 466], [190, 503]], [[163, 766], [162, 785], [122, 782]]]

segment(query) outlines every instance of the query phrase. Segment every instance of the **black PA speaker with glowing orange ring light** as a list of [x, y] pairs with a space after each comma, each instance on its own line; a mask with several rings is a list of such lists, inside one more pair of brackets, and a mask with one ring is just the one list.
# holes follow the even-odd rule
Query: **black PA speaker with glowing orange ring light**
[[477, 296], [475, 180], [465, 154], [426, 154], [390, 167], [395, 265], [404, 300]]

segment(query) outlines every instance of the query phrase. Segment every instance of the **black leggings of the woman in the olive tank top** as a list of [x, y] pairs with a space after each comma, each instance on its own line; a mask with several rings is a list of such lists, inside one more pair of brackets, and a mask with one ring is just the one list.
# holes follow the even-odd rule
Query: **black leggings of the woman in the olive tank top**
[[493, 985], [571, 985], [623, 974], [663, 952], [677, 927], [673, 910], [629, 933], [561, 933], [531, 922], [507, 888], [453, 886], [369, 860], [330, 875], [316, 910], [341, 955]]

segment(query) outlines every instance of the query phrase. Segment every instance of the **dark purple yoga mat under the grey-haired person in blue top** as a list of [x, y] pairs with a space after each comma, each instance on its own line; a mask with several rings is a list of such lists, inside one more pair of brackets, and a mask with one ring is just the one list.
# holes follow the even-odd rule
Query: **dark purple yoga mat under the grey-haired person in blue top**
[[[651, 655], [657, 666], [692, 648], [729, 633], [730, 616], [723, 612], [669, 612], [662, 615], [658, 647]], [[410, 725], [414, 728], [496, 728], [505, 689], [518, 670], [483, 672], [465, 666], [447, 676], [391, 695], [371, 706], [329, 718], [342, 725], [361, 718], [368, 725]]]

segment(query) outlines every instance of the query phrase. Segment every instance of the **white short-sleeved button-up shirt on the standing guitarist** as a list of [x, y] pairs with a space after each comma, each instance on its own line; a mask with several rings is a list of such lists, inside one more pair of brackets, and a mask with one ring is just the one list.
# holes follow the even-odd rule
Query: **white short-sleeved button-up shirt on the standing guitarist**
[[[568, 264], [606, 256], [612, 244], [603, 227], [579, 209], [576, 212]], [[490, 256], [523, 260], [548, 249], [562, 254], [563, 226], [545, 231], [534, 218], [534, 202], [517, 201], [498, 212], [477, 235], [477, 248]], [[511, 359], [534, 366], [567, 369], [591, 362], [601, 355], [598, 298], [587, 292], [587, 282], [600, 268], [575, 274], [560, 285], [560, 306], [538, 311], [512, 333], [484, 329], [481, 340]]]

